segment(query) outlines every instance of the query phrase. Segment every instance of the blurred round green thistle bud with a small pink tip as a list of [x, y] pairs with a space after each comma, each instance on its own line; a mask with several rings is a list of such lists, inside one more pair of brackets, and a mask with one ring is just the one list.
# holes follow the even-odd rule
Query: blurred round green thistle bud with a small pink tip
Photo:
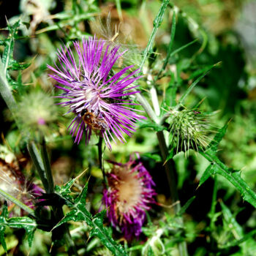
[[31, 91], [18, 102], [18, 116], [31, 132], [48, 132], [57, 121], [58, 112], [53, 97], [43, 91]]

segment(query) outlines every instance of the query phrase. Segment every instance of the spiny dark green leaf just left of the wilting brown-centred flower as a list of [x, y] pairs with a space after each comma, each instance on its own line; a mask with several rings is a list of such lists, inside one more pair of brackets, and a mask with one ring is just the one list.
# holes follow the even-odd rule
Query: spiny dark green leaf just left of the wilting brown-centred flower
[[[69, 184], [64, 185], [65, 188], [59, 189], [59, 191], [62, 191], [62, 194], [65, 197], [67, 197], [66, 192], [70, 187], [72, 186], [73, 181], [69, 181]], [[116, 256], [125, 256], [127, 253], [124, 251], [124, 248], [121, 246], [121, 244], [116, 244], [116, 242], [113, 240], [113, 238], [108, 233], [108, 230], [103, 226], [103, 219], [105, 217], [105, 211], [100, 212], [99, 214], [96, 214], [94, 217], [91, 215], [89, 211], [86, 209], [86, 195], [87, 195], [87, 189], [88, 189], [88, 183], [83, 188], [82, 192], [80, 192], [80, 195], [75, 198], [74, 202], [72, 203], [72, 206], [69, 206], [72, 208], [72, 211], [70, 211], [61, 221], [54, 227], [59, 227], [60, 225], [69, 222], [79, 222], [79, 221], [85, 221], [89, 227], [91, 227], [91, 233], [90, 236], [97, 236], [100, 241], [102, 241], [102, 244], [104, 244], [111, 252], [113, 252], [113, 255]]]

